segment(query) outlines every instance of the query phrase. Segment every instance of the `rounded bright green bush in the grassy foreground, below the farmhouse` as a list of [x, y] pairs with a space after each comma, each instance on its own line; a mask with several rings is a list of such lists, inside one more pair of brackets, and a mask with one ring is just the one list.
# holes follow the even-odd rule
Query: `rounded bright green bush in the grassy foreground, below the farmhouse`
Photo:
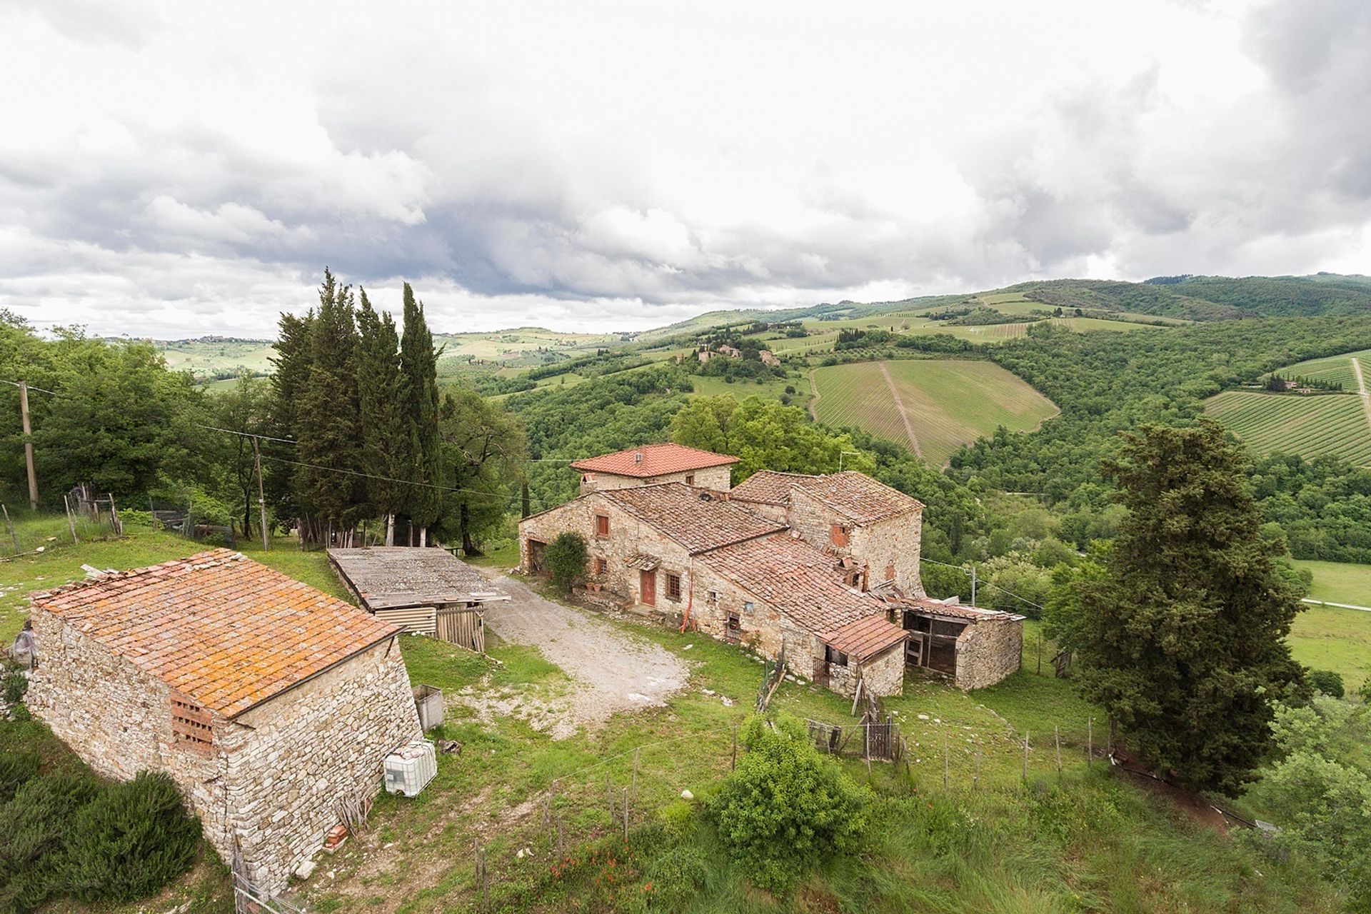
[[857, 843], [868, 793], [818, 754], [805, 726], [753, 718], [747, 752], [712, 804], [724, 843], [753, 862], [753, 881], [783, 891], [823, 858]]

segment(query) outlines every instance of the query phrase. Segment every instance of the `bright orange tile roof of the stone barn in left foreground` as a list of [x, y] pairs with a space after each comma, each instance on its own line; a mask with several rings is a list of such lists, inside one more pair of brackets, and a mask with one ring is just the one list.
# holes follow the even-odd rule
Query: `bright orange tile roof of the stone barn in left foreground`
[[225, 717], [399, 633], [229, 549], [69, 584], [33, 603]]

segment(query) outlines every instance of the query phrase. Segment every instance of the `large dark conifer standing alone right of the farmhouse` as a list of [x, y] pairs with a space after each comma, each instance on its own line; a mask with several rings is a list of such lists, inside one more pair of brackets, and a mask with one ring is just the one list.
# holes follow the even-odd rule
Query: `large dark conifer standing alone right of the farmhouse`
[[1216, 422], [1124, 437], [1105, 473], [1130, 514], [1082, 586], [1080, 684], [1143, 763], [1233, 793], [1270, 745], [1271, 700], [1302, 685], [1286, 644], [1300, 600]]

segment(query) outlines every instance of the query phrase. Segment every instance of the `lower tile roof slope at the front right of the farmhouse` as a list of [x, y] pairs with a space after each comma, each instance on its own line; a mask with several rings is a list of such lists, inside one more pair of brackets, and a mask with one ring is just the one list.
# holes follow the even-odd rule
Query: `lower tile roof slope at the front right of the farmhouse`
[[790, 533], [725, 545], [699, 560], [816, 634], [886, 614], [884, 603], [843, 584], [834, 556]]

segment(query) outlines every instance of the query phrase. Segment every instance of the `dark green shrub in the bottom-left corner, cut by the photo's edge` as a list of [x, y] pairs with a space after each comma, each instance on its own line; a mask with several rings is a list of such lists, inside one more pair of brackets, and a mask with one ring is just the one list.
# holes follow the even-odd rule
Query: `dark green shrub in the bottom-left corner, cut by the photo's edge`
[[85, 777], [33, 777], [0, 806], [0, 911], [32, 910], [59, 891], [73, 818], [96, 789]]

